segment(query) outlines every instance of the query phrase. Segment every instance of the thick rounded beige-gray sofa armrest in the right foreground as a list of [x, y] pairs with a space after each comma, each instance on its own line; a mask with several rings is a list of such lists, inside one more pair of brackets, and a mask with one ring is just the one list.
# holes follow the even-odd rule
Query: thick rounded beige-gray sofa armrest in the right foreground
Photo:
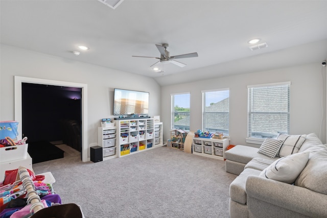
[[307, 188], [250, 175], [246, 180], [245, 190], [248, 198], [297, 213], [314, 217], [327, 215], [327, 195]]

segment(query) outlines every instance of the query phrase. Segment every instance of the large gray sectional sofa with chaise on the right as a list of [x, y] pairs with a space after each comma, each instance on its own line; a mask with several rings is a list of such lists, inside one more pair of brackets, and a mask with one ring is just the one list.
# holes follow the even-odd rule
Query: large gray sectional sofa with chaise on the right
[[229, 187], [231, 218], [327, 217], [327, 146], [312, 133], [298, 149], [282, 158], [247, 146], [225, 152], [226, 172], [239, 175]]

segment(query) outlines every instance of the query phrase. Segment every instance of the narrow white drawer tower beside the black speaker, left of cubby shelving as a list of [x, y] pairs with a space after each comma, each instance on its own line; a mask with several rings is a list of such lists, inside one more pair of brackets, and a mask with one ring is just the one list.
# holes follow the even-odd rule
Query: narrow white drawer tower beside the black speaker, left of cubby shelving
[[117, 156], [116, 127], [99, 127], [98, 144], [102, 147], [103, 160], [115, 158]]

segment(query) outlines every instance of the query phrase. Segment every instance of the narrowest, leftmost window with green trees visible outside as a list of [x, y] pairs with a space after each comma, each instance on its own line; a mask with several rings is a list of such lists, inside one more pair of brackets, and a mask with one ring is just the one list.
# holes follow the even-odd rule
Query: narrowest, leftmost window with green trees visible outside
[[190, 131], [190, 93], [172, 94], [172, 129]]

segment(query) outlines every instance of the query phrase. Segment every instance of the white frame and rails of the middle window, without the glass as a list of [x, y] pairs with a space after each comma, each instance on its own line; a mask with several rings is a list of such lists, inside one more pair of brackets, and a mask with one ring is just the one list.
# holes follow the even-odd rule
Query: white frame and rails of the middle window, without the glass
[[[206, 104], [205, 103], [205, 94], [208, 93], [208, 92], [220, 92], [220, 91], [228, 91], [228, 99], [230, 98], [230, 96], [229, 96], [229, 88], [212, 89], [212, 90], [202, 90], [201, 91], [202, 92], [202, 131], [223, 132], [224, 135], [229, 136], [229, 102], [228, 102], [228, 112], [218, 112], [218, 111], [216, 111], [216, 112], [205, 112], [205, 107], [206, 107], [205, 106], [205, 104]], [[215, 128], [209, 128], [209, 127], [207, 127], [205, 125], [205, 117], [206, 117], [205, 115], [206, 115], [206, 113], [215, 113], [218, 116], [219, 116], [219, 114], [226, 114], [227, 113], [227, 116], [228, 116], [228, 118], [227, 118], [227, 124], [226, 123], [222, 124], [222, 126], [220, 128], [220, 129], [222, 129], [223, 126], [226, 126], [227, 125], [227, 130], [226, 130], [226, 128], [224, 128], [225, 130], [219, 130], [219, 128], [217, 128], [215, 130]]]

